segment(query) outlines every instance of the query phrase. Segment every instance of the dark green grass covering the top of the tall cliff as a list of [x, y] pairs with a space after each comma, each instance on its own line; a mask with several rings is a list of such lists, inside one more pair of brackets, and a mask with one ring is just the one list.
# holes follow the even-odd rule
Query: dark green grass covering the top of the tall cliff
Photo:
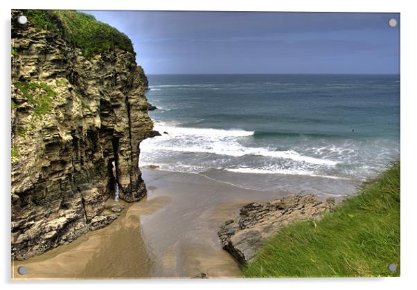
[[26, 15], [37, 28], [60, 33], [64, 39], [81, 48], [85, 57], [115, 47], [133, 53], [129, 37], [97, 21], [92, 15], [73, 10], [26, 10]]

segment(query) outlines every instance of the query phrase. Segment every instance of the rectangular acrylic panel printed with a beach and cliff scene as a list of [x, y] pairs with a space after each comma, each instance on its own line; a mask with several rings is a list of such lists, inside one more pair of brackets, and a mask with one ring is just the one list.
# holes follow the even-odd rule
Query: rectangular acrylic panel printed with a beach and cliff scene
[[400, 275], [400, 14], [11, 11], [12, 279]]

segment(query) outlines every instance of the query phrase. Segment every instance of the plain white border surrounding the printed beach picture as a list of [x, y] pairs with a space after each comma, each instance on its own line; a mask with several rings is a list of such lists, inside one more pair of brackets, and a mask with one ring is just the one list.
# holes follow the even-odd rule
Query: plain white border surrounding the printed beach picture
[[[134, 287], [136, 289], [212, 289], [228, 287], [239, 289], [407, 289], [413, 280], [416, 269], [416, 194], [414, 190], [414, 167], [416, 164], [416, 31], [417, 11], [411, 5], [413, 1], [328, 1], [328, 0], [292, 0], [292, 1], [247, 1], [247, 0], [15, 0], [11, 3], [1, 1], [1, 131], [3, 142], [1, 150], [1, 184], [3, 185], [3, 217], [1, 238], [1, 282], [3, 287], [13, 289], [71, 289], [79, 286], [100, 289], [115, 287]], [[274, 279], [274, 280], [98, 280], [98, 281], [43, 281], [10, 282], [10, 9], [79, 9], [79, 10], [230, 10], [230, 11], [305, 11], [305, 12], [400, 12], [401, 13], [401, 278], [343, 278], [343, 279]], [[123, 286], [122, 286], [123, 285]]]

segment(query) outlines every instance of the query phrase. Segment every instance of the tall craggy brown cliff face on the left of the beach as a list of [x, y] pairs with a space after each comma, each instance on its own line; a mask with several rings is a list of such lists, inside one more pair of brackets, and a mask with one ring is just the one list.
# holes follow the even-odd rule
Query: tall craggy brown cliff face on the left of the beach
[[60, 17], [50, 14], [60, 28], [51, 31], [51, 24], [42, 27], [42, 21], [30, 17], [27, 24], [17, 24], [21, 14], [12, 11], [16, 260], [111, 222], [114, 217], [103, 210], [116, 184], [124, 201], [141, 199], [146, 188], [138, 167], [139, 144], [154, 136], [144, 95], [148, 84], [133, 51], [114, 45], [85, 53], [69, 42]]

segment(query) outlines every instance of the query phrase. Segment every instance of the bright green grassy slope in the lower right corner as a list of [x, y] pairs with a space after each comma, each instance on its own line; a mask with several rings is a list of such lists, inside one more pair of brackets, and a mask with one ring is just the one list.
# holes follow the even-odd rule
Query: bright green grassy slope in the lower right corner
[[[396, 272], [388, 271], [395, 263]], [[245, 266], [247, 278], [400, 275], [400, 163], [321, 221], [280, 230]]]

